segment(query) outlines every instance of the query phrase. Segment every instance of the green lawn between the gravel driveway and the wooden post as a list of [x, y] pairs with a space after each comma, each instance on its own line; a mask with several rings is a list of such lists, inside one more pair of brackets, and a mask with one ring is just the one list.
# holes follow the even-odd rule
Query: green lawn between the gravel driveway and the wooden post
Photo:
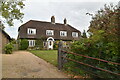
[[30, 52], [57, 66], [57, 50], [30, 50]]

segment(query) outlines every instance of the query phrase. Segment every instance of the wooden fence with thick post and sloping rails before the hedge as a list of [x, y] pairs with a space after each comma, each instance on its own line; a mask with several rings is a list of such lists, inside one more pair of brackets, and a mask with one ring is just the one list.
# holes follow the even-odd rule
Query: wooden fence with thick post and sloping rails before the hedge
[[88, 73], [90, 73], [90, 74], [92, 74], [96, 77], [104, 78], [101, 75], [98, 75], [98, 74], [94, 73], [95, 70], [99, 70], [99, 71], [102, 71], [102, 72], [106, 72], [106, 74], [114, 75], [115, 76], [114, 78], [116, 78], [116, 79], [120, 78], [120, 73], [116, 73], [114, 71], [110, 71], [110, 70], [107, 70], [107, 69], [96, 67], [97, 64], [96, 65], [87, 64], [87, 63], [84, 63], [82, 61], [77, 61], [77, 60], [71, 59], [71, 58], [68, 57], [68, 54], [72, 54], [74, 56], [84, 57], [86, 59], [96, 60], [96, 61], [107, 63], [107, 64], [112, 64], [112, 65], [117, 66], [117, 68], [120, 68], [120, 63], [110, 62], [110, 61], [106, 61], [106, 60], [103, 60], [103, 59], [94, 58], [94, 57], [90, 57], [90, 56], [85, 56], [85, 55], [81, 55], [81, 54], [77, 54], [77, 53], [73, 53], [73, 52], [63, 50], [62, 42], [60, 42], [59, 43], [59, 48], [58, 48], [58, 69], [59, 70], [61, 70], [63, 68], [65, 63], [67, 63], [68, 61], [72, 61], [72, 62], [75, 62], [77, 64], [84, 65], [83, 67], [85, 67], [85, 66], [90, 67], [90, 68], [92, 68], [92, 71], [89, 70], [90, 68], [88, 68], [88, 70], [85, 70], [85, 68], [83, 68], [83, 67], [74, 67], [74, 69], [75, 68], [82, 68], [82, 69], [84, 69], [84, 71], [86, 71], [86, 72], [88, 72]]

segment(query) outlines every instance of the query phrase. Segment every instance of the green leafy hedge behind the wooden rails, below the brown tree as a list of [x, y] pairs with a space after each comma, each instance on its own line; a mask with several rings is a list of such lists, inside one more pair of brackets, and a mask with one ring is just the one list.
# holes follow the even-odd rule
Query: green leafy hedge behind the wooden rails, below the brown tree
[[[119, 52], [118, 52], [117, 45], [118, 45], [117, 42], [107, 41], [105, 37], [105, 32], [102, 30], [99, 30], [95, 35], [93, 35], [90, 38], [81, 39], [80, 41], [75, 41], [75, 43], [73, 43], [71, 46], [71, 51], [77, 54], [83, 54], [86, 56], [91, 56], [94, 58], [100, 58], [100, 59], [104, 59], [107, 61], [119, 63]], [[106, 70], [109, 70], [115, 73], [120, 72], [118, 65], [105, 63], [105, 62], [101, 62], [101, 61], [97, 61], [97, 60], [93, 60], [89, 58], [84, 58], [81, 56], [75, 56], [72, 54], [69, 54], [68, 57], [70, 59], [74, 59], [76, 61], [90, 64], [92, 66], [106, 69]], [[113, 74], [110, 74], [110, 73], [107, 73], [101, 70], [97, 70], [97, 69], [94, 69], [88, 66], [84, 66], [79, 63], [72, 62], [72, 61], [69, 61], [66, 65], [69, 67], [67, 69], [71, 71], [77, 71], [77, 72], [79, 71], [78, 73], [80, 75], [89, 74], [86, 72], [91, 71], [103, 78], [117, 78], [118, 77], [116, 75], [113, 75]], [[76, 69], [75, 67], [78, 67], [81, 70]], [[83, 74], [81, 73], [81, 71]], [[89, 75], [91, 75], [91, 73]], [[94, 77], [94, 76], [91, 75], [91, 77]]]

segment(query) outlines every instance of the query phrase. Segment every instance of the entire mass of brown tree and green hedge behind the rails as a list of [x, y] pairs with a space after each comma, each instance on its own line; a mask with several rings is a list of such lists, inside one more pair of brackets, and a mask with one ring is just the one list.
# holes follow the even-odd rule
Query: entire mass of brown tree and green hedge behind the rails
[[[95, 16], [92, 16], [92, 21], [89, 27], [89, 32], [92, 33], [90, 38], [83, 38], [80, 41], [76, 41], [71, 46], [71, 51], [77, 54], [83, 54], [94, 58], [100, 58], [107, 61], [119, 63], [120, 61], [120, 34], [119, 34], [119, 21], [120, 10], [113, 5], [105, 5], [104, 9], [98, 11]], [[100, 67], [106, 70], [110, 70], [115, 73], [119, 73], [119, 66], [97, 60], [87, 59], [80, 56], [68, 55], [69, 58], [76, 61], [81, 61], [95, 67]], [[72, 67], [78, 67], [81, 70], [93, 72], [103, 78], [117, 78], [118, 76], [102, 72], [100, 70], [90, 68], [78, 63], [69, 64]], [[70, 67], [70, 70], [73, 68]], [[75, 69], [76, 71], [78, 69]], [[90, 73], [91, 75], [91, 73]]]

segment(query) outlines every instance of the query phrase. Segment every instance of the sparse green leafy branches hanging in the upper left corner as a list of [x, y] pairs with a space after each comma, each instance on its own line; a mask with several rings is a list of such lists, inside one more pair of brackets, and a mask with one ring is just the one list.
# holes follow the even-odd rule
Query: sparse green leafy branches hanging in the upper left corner
[[14, 20], [20, 20], [22, 22], [23, 13], [21, 10], [25, 4], [23, 0], [4, 0], [0, 1], [0, 13], [1, 19], [4, 20], [9, 26], [13, 26]]

